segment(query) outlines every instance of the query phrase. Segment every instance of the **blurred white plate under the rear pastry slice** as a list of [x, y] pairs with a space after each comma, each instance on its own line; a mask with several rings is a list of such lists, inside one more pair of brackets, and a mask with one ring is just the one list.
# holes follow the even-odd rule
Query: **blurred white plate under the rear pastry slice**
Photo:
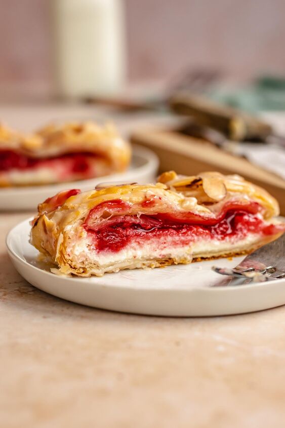
[[57, 192], [70, 188], [90, 190], [98, 183], [121, 181], [128, 183], [150, 183], [158, 169], [158, 158], [151, 150], [135, 145], [132, 163], [128, 171], [90, 180], [72, 181], [49, 186], [5, 187], [0, 188], [0, 210], [25, 211], [34, 210], [39, 202], [54, 196]]

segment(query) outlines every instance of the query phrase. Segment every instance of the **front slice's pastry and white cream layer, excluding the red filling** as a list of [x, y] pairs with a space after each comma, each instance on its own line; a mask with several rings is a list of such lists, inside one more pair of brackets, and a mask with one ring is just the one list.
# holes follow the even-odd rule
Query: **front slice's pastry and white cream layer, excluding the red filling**
[[193, 258], [235, 255], [276, 238], [284, 230], [283, 226], [271, 236], [251, 231], [239, 240], [208, 238], [205, 242], [200, 239], [189, 244], [181, 241], [181, 245], [178, 242], [175, 248], [166, 236], [162, 253], [159, 249], [162, 241], [155, 241], [156, 238], [145, 243], [143, 239], [140, 242], [134, 240], [115, 253], [100, 252], [92, 241], [89, 228], [95, 231], [102, 229], [116, 216], [124, 216], [123, 220], [143, 219], [144, 216], [163, 217], [169, 213], [175, 218], [187, 217], [190, 213], [195, 218], [215, 224], [215, 219], [225, 207], [242, 210], [249, 204], [259, 207], [257, 216], [265, 224], [276, 223], [273, 219], [279, 213], [276, 200], [264, 189], [239, 176], [206, 172], [185, 177], [171, 171], [162, 174], [156, 184], [105, 185], [83, 193], [75, 189], [57, 194], [39, 204], [31, 230], [31, 243], [55, 263], [61, 274], [78, 276], [103, 275], [124, 268], [190, 263]]

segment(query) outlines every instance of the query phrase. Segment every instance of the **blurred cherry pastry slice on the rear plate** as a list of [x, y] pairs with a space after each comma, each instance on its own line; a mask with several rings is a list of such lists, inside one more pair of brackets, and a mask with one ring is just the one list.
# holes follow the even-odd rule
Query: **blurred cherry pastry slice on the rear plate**
[[131, 149], [112, 126], [47, 126], [29, 137], [0, 126], [0, 187], [60, 183], [127, 169]]

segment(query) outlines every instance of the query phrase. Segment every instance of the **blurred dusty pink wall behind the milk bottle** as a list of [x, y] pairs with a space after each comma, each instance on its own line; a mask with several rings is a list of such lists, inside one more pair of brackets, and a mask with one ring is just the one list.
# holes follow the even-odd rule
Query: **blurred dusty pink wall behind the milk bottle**
[[[284, 0], [126, 0], [129, 77], [211, 65], [285, 74]], [[0, 82], [51, 84], [49, 0], [0, 0]]]

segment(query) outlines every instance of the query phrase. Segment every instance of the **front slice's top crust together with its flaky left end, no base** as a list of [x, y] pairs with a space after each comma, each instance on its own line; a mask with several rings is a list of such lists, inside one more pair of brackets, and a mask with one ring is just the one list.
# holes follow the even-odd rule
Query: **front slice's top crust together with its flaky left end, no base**
[[170, 171], [161, 174], [156, 184], [105, 183], [96, 187], [83, 193], [78, 189], [66, 190], [38, 205], [31, 243], [45, 256], [51, 256], [62, 272], [70, 270], [70, 242], [86, 235], [84, 224], [89, 221], [91, 210], [92, 222], [99, 227], [116, 215], [179, 216], [191, 212], [217, 218], [226, 204], [240, 209], [242, 205], [258, 203], [259, 214], [266, 220], [279, 213], [276, 200], [267, 191], [239, 176], [217, 172], [186, 177]]

